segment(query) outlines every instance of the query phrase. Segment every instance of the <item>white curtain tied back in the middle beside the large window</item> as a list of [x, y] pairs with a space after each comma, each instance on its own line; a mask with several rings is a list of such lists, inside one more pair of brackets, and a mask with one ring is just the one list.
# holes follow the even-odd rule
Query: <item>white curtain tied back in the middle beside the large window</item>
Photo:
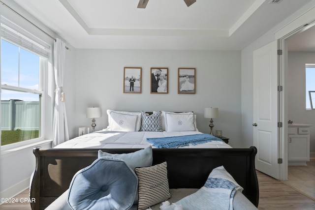
[[55, 109], [53, 122], [53, 147], [69, 140], [65, 97], [63, 92], [63, 72], [65, 60], [65, 43], [56, 39], [54, 43], [54, 73], [56, 83]]

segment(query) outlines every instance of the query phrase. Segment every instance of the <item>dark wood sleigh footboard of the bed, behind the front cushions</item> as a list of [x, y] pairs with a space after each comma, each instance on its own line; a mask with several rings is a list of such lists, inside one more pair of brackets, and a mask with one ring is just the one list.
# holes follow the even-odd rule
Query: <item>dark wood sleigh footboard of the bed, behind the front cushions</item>
[[[139, 149], [101, 149], [128, 153]], [[32, 210], [45, 209], [68, 187], [73, 175], [97, 158], [98, 149], [39, 149], [31, 185]], [[255, 147], [249, 149], [153, 149], [153, 164], [167, 161], [170, 188], [200, 188], [212, 169], [223, 165], [244, 188], [243, 194], [258, 206]]]

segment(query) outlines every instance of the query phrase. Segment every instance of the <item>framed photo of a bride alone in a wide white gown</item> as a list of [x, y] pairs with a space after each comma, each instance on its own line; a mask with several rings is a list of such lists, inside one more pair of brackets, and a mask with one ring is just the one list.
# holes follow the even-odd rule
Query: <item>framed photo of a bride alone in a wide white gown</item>
[[196, 93], [196, 68], [178, 68], [178, 94]]

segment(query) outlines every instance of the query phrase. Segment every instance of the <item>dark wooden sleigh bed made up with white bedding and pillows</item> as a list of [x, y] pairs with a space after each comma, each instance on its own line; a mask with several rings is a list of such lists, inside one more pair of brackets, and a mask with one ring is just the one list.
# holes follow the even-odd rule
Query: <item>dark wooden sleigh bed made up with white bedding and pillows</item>
[[[164, 141], [165, 138], [175, 137], [178, 140], [204, 135], [198, 131], [193, 113], [162, 113], [152, 112], [148, 115], [144, 112], [139, 114], [107, 110], [109, 125], [106, 129], [79, 136], [53, 149], [35, 148], [33, 153], [36, 166], [31, 180], [30, 197], [36, 202], [31, 203], [32, 210], [45, 209], [62, 195], [76, 172], [98, 158], [99, 150], [120, 154], [148, 146], [153, 148], [152, 164], [167, 162], [170, 188], [200, 188], [212, 169], [224, 166], [242, 185], [243, 194], [248, 200], [258, 206], [258, 181], [254, 167], [256, 148], [233, 149], [217, 138], [158, 149], [147, 139]], [[152, 126], [157, 115], [161, 120], [159, 127], [155, 126], [156, 123]], [[146, 121], [149, 121], [148, 127], [144, 125]]]

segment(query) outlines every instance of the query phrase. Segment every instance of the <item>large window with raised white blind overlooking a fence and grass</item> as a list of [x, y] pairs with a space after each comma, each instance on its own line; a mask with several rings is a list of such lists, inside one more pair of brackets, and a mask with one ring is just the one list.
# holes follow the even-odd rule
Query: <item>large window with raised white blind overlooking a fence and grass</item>
[[43, 139], [44, 68], [51, 47], [3, 16], [0, 24], [0, 146], [18, 147]]

